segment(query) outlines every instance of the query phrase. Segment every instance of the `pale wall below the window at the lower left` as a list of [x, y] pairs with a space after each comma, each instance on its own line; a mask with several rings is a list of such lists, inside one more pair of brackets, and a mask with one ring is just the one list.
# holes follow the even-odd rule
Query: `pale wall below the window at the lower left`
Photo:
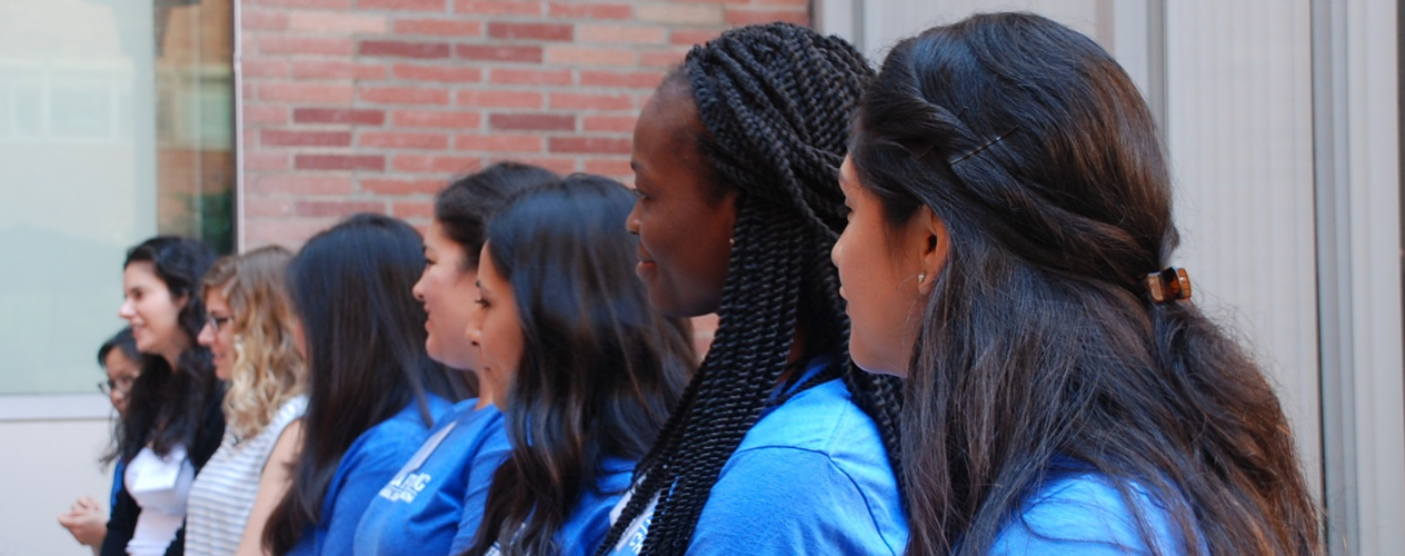
[[[4, 403], [4, 402], [0, 402]], [[0, 421], [0, 556], [91, 555], [58, 515], [80, 496], [108, 507], [111, 469], [97, 459], [107, 446], [111, 423], [104, 418], [66, 421]]]

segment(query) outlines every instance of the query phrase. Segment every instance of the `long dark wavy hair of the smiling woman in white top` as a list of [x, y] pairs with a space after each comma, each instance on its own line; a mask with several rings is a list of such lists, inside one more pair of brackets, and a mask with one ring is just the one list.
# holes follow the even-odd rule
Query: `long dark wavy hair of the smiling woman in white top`
[[177, 444], [190, 448], [207, 406], [223, 396], [209, 350], [195, 341], [205, 326], [200, 281], [215, 263], [215, 251], [190, 237], [157, 236], [126, 251], [122, 268], [133, 263], [150, 263], [171, 300], [185, 299], [177, 326], [188, 347], [180, 352], [174, 369], [159, 355], [132, 359], [142, 365], [142, 373], [128, 393], [117, 451], [104, 458], [108, 462], [131, 461], [145, 446], [162, 456]]

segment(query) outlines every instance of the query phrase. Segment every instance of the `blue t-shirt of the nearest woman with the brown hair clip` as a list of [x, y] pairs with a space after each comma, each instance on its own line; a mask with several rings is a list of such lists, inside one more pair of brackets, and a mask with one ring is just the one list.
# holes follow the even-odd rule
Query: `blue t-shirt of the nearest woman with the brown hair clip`
[[[1132, 503], [1162, 555], [1186, 553], [1166, 505], [1132, 483]], [[1045, 480], [991, 545], [992, 556], [1151, 555], [1117, 486], [1087, 465], [1057, 461]]]

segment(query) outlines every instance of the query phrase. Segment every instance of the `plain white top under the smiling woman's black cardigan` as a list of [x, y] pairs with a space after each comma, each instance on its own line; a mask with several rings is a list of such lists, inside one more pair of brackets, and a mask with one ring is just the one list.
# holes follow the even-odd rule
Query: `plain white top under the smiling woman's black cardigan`
[[195, 468], [185, 456], [185, 446], [177, 444], [166, 458], [156, 455], [150, 446], [142, 448], [126, 463], [122, 476], [128, 494], [136, 500], [142, 512], [136, 517], [136, 529], [126, 542], [131, 556], [163, 556], [166, 548], [176, 539], [181, 521], [185, 519], [185, 498], [190, 484], [195, 480]]

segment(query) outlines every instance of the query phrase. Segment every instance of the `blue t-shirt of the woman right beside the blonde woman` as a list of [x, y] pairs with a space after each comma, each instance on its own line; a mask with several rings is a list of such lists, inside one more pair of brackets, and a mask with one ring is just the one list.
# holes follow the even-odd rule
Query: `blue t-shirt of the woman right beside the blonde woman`
[[[454, 409], [438, 396], [427, 396], [430, 416], [443, 421]], [[322, 500], [322, 521], [309, 525], [289, 556], [344, 556], [351, 553], [357, 525], [371, 500], [429, 438], [420, 404], [410, 402], [399, 413], [375, 424], [351, 442]]]

